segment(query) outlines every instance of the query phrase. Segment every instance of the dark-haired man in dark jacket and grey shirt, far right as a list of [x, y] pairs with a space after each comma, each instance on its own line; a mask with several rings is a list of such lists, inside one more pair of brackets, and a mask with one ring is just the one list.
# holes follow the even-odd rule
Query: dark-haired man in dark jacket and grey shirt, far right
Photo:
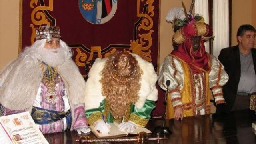
[[217, 107], [216, 113], [249, 109], [250, 95], [256, 92], [255, 28], [242, 25], [236, 36], [238, 45], [222, 49], [218, 56], [229, 80], [223, 86], [227, 107]]

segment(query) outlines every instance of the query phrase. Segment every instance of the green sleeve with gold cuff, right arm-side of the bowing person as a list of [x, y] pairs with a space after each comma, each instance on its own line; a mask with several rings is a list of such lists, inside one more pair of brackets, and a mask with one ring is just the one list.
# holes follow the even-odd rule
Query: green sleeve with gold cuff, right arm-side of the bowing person
[[152, 100], [146, 100], [143, 107], [138, 109], [136, 106], [132, 105], [132, 112], [130, 114], [129, 120], [134, 122], [140, 127], [145, 127], [150, 119], [150, 114], [152, 110], [156, 107], [156, 103]]

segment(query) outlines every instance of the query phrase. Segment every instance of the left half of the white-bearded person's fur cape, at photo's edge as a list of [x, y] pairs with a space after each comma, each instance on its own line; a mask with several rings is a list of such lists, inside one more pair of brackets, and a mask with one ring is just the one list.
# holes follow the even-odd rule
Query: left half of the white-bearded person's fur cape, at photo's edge
[[36, 98], [42, 72], [32, 58], [20, 57], [1, 72], [0, 80], [0, 103], [11, 110], [27, 110]]

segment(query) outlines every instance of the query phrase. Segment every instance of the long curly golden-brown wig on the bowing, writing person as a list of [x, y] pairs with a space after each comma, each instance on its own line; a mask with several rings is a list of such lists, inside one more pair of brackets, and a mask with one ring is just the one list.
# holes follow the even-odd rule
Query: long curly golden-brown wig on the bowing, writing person
[[100, 82], [114, 119], [122, 120], [126, 106], [138, 100], [141, 75], [138, 61], [129, 52], [117, 51], [109, 56]]

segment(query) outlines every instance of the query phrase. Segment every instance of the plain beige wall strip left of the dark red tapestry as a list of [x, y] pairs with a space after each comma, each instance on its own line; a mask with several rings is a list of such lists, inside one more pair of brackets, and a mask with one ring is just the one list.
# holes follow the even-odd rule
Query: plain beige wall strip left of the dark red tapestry
[[19, 0], [0, 0], [0, 70], [18, 56]]

